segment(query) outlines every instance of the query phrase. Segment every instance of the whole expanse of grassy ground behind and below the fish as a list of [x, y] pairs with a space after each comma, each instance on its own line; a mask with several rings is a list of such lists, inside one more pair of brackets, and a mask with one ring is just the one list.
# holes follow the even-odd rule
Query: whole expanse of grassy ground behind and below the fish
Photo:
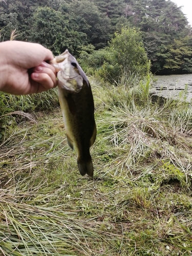
[[2, 117], [1, 255], [191, 255], [192, 109], [153, 103], [149, 82], [91, 78], [94, 180], [51, 99], [49, 112]]

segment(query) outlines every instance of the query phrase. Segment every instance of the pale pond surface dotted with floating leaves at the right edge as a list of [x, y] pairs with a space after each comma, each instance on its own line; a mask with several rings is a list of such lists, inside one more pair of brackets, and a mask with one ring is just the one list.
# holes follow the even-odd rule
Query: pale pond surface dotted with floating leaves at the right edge
[[153, 83], [151, 93], [163, 98], [192, 99], [192, 74], [154, 76], [157, 81]]

